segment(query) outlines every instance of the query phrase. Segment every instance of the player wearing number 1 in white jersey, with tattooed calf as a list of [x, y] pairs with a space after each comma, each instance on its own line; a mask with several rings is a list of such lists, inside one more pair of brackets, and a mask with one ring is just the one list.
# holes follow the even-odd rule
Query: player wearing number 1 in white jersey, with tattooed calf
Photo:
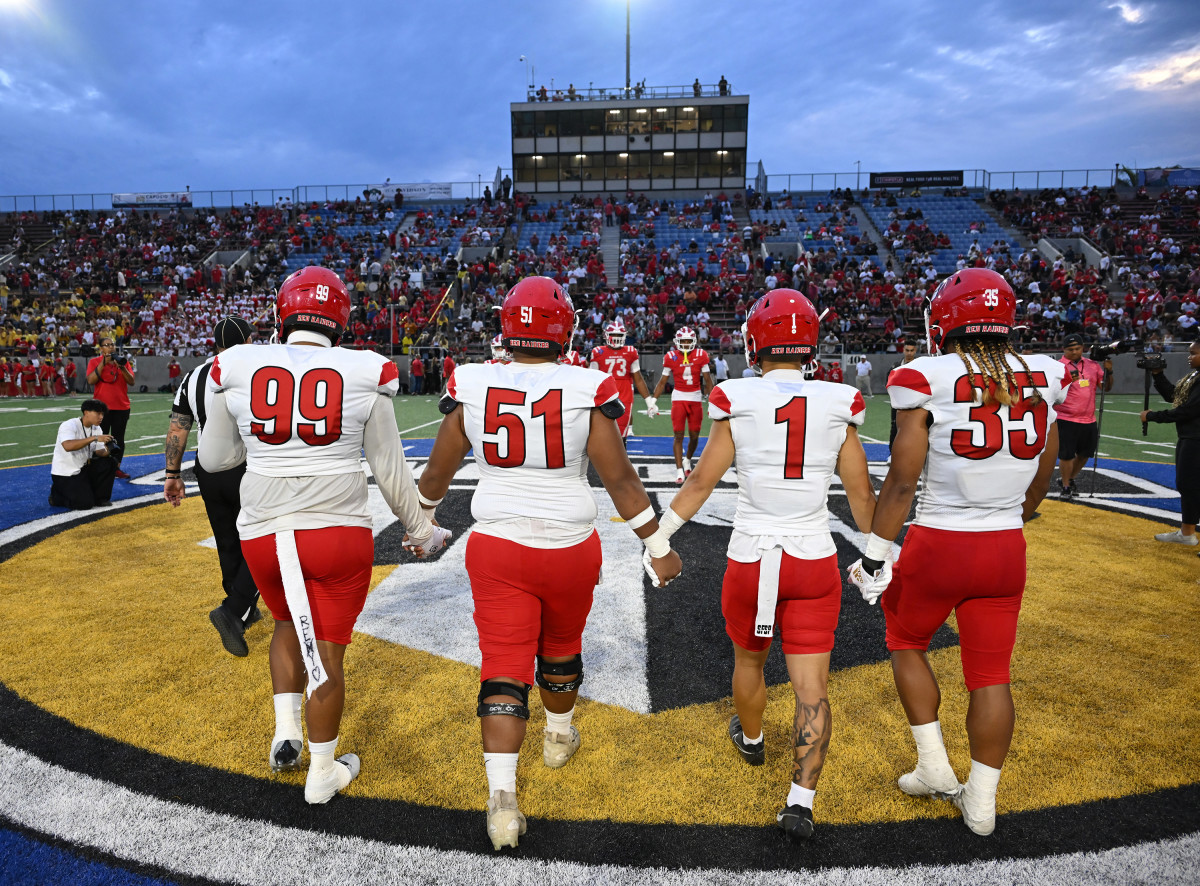
[[838, 549], [829, 532], [829, 483], [841, 478], [854, 521], [871, 525], [875, 490], [858, 427], [863, 396], [806, 379], [817, 313], [793, 289], [760, 298], [743, 327], [746, 363], [761, 378], [718, 384], [708, 397], [708, 444], [661, 525], [670, 537], [690, 520], [737, 461], [738, 508], [721, 586], [733, 641], [730, 738], [751, 766], [766, 760], [762, 669], [778, 625], [796, 694], [792, 784], [775, 820], [793, 840], [812, 836], [812, 800], [833, 730], [829, 653], [841, 610]]

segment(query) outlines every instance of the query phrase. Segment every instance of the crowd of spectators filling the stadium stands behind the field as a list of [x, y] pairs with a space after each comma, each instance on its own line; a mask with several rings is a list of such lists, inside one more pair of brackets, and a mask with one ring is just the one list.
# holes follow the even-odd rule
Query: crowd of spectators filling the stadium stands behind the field
[[[1027, 346], [1052, 349], [1072, 333], [1096, 341], [1141, 337], [1152, 347], [1195, 339], [1195, 190], [1126, 200], [1098, 188], [1001, 191], [989, 199], [1036, 239], [1084, 237], [1104, 253], [1097, 267], [1070, 247], [1054, 261], [1038, 252], [1014, 256], [1007, 239], [979, 223], [958, 267], [1008, 276], [1021, 298]], [[878, 252], [858, 231], [859, 200], [889, 210]], [[751, 210], [749, 223], [743, 208]], [[898, 352], [920, 334], [923, 305], [938, 281], [929, 256], [946, 239], [905, 194], [886, 191], [552, 202], [522, 193], [494, 199], [488, 191], [479, 200], [404, 211], [356, 199], [7, 221], [20, 232], [49, 226], [54, 237], [34, 250], [16, 234], [16, 259], [0, 271], [0, 354], [52, 366], [92, 353], [102, 331], [131, 354], [205, 355], [209, 330], [228, 313], [252, 321], [265, 337], [274, 291], [310, 262], [336, 269], [355, 297], [347, 343], [401, 354], [420, 345], [460, 360], [486, 357], [508, 288], [534, 274], [556, 279], [576, 298], [583, 351], [619, 318], [630, 343], [652, 353], [668, 347], [682, 325], [694, 327], [703, 347], [739, 352], [749, 305], [791, 287], [824, 312], [823, 353]], [[610, 227], [620, 233], [617, 268], [605, 267], [601, 251]], [[772, 253], [785, 241], [802, 245], [798, 258]], [[460, 263], [460, 246], [485, 249]], [[211, 261], [224, 250], [241, 261]]]

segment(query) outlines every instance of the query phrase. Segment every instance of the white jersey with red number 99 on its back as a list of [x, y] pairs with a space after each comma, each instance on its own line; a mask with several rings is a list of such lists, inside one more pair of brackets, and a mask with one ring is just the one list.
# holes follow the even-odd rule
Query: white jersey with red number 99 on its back
[[362, 471], [364, 427], [378, 396], [396, 395], [400, 375], [370, 351], [269, 345], [220, 354], [209, 387], [226, 395], [250, 472], [328, 477]]

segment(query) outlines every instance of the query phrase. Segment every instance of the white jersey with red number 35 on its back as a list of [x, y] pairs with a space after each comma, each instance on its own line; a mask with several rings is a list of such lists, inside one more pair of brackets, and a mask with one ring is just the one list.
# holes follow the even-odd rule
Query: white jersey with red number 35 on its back
[[[894, 409], [928, 409], [929, 455], [913, 523], [956, 532], [1021, 527], [1025, 492], [1038, 469], [1055, 406], [1067, 396], [1066, 367], [1046, 354], [1008, 357], [1025, 395], [983, 406], [958, 354], [919, 357], [888, 376]], [[1042, 400], [1033, 402], [1037, 389]]]

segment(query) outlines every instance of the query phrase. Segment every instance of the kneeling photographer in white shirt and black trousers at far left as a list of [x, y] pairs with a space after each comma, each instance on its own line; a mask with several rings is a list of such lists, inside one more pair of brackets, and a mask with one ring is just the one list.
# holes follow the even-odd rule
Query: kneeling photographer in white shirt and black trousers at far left
[[113, 503], [113, 477], [116, 461], [109, 447], [116, 449], [112, 435], [101, 430], [108, 407], [101, 400], [84, 400], [82, 415], [59, 425], [50, 462], [52, 508], [90, 510], [97, 504]]

